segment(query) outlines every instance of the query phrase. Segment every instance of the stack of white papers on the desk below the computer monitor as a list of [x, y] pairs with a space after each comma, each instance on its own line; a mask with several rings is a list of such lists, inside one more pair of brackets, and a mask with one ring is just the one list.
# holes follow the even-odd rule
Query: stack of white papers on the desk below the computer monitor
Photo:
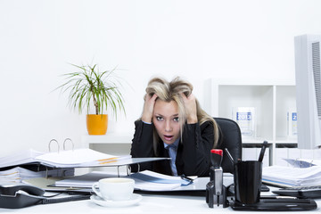
[[284, 186], [321, 185], [321, 166], [309, 168], [271, 166], [263, 169], [262, 181]]

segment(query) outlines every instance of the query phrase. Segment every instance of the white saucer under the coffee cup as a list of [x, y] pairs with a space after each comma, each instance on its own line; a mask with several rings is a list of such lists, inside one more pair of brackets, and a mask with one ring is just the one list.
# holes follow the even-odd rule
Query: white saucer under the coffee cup
[[133, 193], [133, 196], [127, 201], [103, 200], [103, 198], [96, 195], [90, 196], [90, 200], [92, 202], [95, 202], [95, 204], [98, 204], [103, 207], [127, 207], [136, 204], [137, 202], [140, 202], [142, 198], [142, 195], [136, 193]]

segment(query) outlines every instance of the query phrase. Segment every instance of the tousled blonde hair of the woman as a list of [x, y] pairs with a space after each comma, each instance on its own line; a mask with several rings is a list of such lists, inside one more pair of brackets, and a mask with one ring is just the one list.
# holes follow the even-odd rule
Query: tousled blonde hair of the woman
[[[178, 118], [180, 122], [180, 130], [181, 136], [183, 134], [183, 128], [185, 126], [186, 121], [186, 111], [185, 111], [185, 104], [181, 94], [183, 93], [185, 96], [189, 96], [192, 94], [193, 85], [182, 78], [174, 78], [170, 82], [164, 78], [152, 78], [146, 87], [146, 95], [154, 95], [156, 94], [158, 97], [157, 99], [161, 99], [161, 101], [171, 102], [175, 101], [178, 106]], [[144, 95], [144, 99], [146, 97]], [[218, 146], [218, 124], [217, 122], [210, 117], [205, 111], [202, 110], [200, 103], [196, 99], [196, 114], [197, 119], [202, 125], [206, 121], [210, 121], [214, 127], [214, 142], [213, 148]], [[154, 151], [157, 153], [157, 144], [159, 144], [160, 137], [157, 135], [156, 131], [154, 131], [154, 139], [153, 139], [153, 147]]]

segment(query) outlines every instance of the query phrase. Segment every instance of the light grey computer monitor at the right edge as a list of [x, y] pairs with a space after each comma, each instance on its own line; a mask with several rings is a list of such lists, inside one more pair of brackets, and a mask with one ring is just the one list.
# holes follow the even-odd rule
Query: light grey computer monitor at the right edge
[[321, 145], [321, 35], [294, 37], [298, 148]]

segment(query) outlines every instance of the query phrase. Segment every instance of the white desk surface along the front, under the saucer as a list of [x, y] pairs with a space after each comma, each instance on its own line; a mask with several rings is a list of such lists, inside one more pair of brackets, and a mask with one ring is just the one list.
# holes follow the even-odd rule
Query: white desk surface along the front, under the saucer
[[[109, 208], [109, 207], [101, 207], [96, 205], [94, 202], [90, 200], [86, 201], [78, 201], [78, 202], [62, 202], [55, 204], [47, 204], [47, 205], [37, 205], [29, 208], [24, 208], [20, 210], [7, 210], [0, 209], [0, 212], [11, 213], [232, 213], [232, 212], [240, 212], [234, 211], [230, 207], [223, 208], [222, 206], [214, 207], [210, 209], [205, 202], [204, 196], [191, 196], [191, 195], [165, 195], [165, 194], [145, 194], [143, 195], [143, 199], [136, 205], [123, 207], [123, 208]], [[268, 194], [268, 193], [262, 193]], [[321, 199], [317, 200], [318, 208], [317, 210], [312, 211], [300, 211], [299, 213], [320, 213], [321, 207]], [[243, 212], [244, 213], [244, 212]], [[251, 211], [251, 213], [262, 213]], [[264, 212], [264, 214], [268, 214], [272, 212]], [[276, 213], [276, 212], [273, 212]], [[289, 212], [282, 212], [289, 213]], [[293, 212], [291, 212], [293, 213]]]

